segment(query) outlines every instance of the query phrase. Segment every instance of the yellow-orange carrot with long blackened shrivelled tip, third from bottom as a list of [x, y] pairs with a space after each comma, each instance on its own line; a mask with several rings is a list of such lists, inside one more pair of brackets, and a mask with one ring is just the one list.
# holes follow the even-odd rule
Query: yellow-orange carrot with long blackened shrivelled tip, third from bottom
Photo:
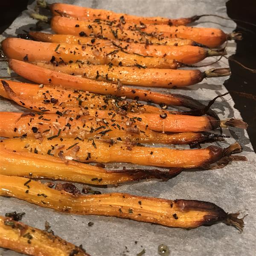
[[[106, 170], [85, 163], [58, 159], [48, 155], [0, 149], [0, 170], [2, 175], [64, 180], [92, 185], [118, 184], [143, 179], [169, 180], [182, 169], [167, 172], [157, 169]], [[52, 170], [54, 169], [54, 172]]]

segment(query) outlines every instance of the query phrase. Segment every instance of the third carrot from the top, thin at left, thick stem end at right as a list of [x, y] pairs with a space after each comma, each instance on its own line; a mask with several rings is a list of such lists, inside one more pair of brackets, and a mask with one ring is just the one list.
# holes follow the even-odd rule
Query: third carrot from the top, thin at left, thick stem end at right
[[[37, 36], [39, 33], [39, 36]], [[191, 45], [183, 45], [180, 47], [177, 46], [168, 46], [168, 45], [155, 45], [155, 44], [136, 44], [136, 43], [125, 43], [125, 42], [112, 42], [111, 40], [104, 39], [91, 39], [91, 38], [83, 38], [83, 37], [75, 37], [73, 38], [70, 35], [51, 35], [44, 34], [40, 32], [32, 32], [30, 33], [32, 36], [35, 35], [35, 38], [42, 37], [41, 41], [56, 41], [55, 43], [63, 44], [82, 44], [84, 46], [94, 47], [95, 49], [103, 48], [103, 47], [113, 47], [113, 49], [122, 49], [125, 52], [134, 54], [140, 54], [144, 56], [151, 57], [161, 57], [166, 59], [175, 59], [176, 61], [180, 61], [185, 64], [194, 64], [203, 60], [208, 56], [217, 56], [223, 54], [222, 51], [213, 51], [207, 50], [202, 47], [191, 46]], [[41, 35], [44, 34], [44, 35]], [[48, 38], [48, 39], [47, 39]], [[53, 39], [52, 39], [53, 38]], [[58, 41], [57, 39], [60, 38]], [[70, 40], [71, 39], [71, 40]], [[73, 40], [72, 40], [73, 39]], [[64, 42], [62, 42], [64, 41]], [[72, 43], [70, 43], [72, 41]]]

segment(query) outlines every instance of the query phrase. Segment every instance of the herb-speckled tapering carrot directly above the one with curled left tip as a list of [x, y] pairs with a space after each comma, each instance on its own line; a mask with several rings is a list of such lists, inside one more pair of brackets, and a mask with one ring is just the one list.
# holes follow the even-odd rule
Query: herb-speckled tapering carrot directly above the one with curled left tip
[[[9, 84], [18, 97], [25, 98], [31, 102], [41, 102], [43, 105], [52, 105], [55, 108], [60, 106], [56, 111], [63, 111], [63, 108], [77, 108], [77, 112], [79, 112], [80, 108], [84, 107], [84, 109], [93, 108], [112, 111], [126, 110], [134, 113], [164, 113], [160, 108], [136, 102], [129, 102], [111, 95], [100, 95], [79, 90], [62, 89], [58, 87], [54, 88], [43, 84], [38, 85], [15, 82], [12, 80], [2, 79], [1, 81]], [[6, 99], [11, 99], [9, 94], [6, 93], [2, 82], [0, 82], [0, 96]]]

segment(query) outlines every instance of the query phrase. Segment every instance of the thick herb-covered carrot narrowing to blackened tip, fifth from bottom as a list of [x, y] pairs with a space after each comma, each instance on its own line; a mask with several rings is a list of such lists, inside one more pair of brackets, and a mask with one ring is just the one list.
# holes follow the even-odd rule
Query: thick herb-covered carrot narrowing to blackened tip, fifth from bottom
[[[97, 115], [96, 115], [97, 116]], [[111, 116], [113, 117], [113, 116]], [[131, 141], [133, 143], [163, 143], [163, 144], [195, 144], [207, 140], [221, 140], [221, 135], [207, 132], [182, 132], [178, 134], [163, 134], [152, 131], [141, 120], [130, 121], [127, 117], [119, 121], [113, 118], [95, 116], [76, 116], [69, 118], [57, 114], [36, 114], [15, 112], [0, 112], [0, 137], [26, 137], [43, 140], [47, 137], [76, 138], [84, 140], [101, 138], [104, 140]]]

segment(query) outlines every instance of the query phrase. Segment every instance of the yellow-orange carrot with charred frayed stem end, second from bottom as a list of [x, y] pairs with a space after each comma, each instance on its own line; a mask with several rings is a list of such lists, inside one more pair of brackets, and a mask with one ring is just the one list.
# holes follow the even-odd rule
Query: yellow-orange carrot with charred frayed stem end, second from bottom
[[[195, 228], [224, 222], [243, 230], [239, 213], [228, 214], [215, 204], [195, 200], [167, 200], [124, 193], [102, 195], [72, 195], [50, 189], [34, 180], [0, 175], [0, 195], [25, 200], [41, 207], [79, 215], [105, 215], [136, 221], [161, 224], [168, 227]], [[15, 184], [15, 186], [13, 186]], [[26, 190], [29, 192], [26, 193]], [[38, 196], [44, 193], [46, 198]]]

